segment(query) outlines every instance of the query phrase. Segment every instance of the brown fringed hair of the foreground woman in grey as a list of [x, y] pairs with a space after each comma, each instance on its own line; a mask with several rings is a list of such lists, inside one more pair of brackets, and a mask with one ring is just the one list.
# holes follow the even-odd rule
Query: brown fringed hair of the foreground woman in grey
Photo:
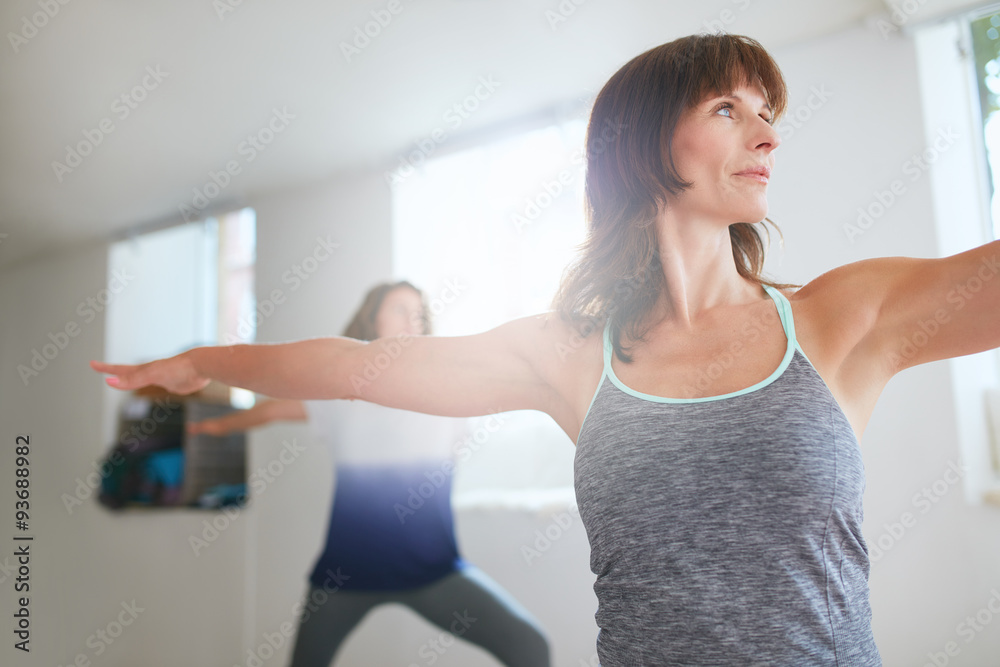
[[[610, 321], [614, 350], [623, 361], [632, 359], [622, 335], [642, 340], [646, 316], [663, 288], [656, 214], [668, 195], [692, 185], [681, 180], [673, 162], [674, 128], [707, 95], [741, 85], [759, 85], [774, 122], [781, 118], [788, 104], [785, 80], [760, 43], [725, 33], [691, 35], [630, 60], [594, 101], [586, 140], [587, 239], [563, 275], [553, 308], [582, 322], [588, 334]], [[758, 284], [792, 287], [761, 276], [765, 245], [758, 224], [729, 226], [736, 270]]]

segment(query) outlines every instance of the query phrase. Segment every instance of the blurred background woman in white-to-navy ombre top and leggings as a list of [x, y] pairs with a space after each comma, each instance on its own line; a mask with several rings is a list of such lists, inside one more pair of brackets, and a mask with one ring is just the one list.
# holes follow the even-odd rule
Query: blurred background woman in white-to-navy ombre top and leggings
[[[430, 333], [426, 298], [406, 281], [373, 287], [344, 331], [362, 341]], [[548, 666], [538, 622], [458, 553], [451, 481], [464, 419], [365, 401], [273, 399], [188, 429], [226, 435], [283, 420], [308, 420], [336, 464], [326, 545], [309, 576], [292, 667], [330, 665], [362, 618], [389, 602], [508, 667]]]

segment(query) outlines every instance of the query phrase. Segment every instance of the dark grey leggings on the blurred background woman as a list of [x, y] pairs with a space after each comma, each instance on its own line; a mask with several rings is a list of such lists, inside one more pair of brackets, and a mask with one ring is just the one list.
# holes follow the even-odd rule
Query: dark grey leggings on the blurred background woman
[[[322, 589], [311, 586], [307, 600], [315, 590]], [[318, 608], [309, 605], [315, 611], [303, 612], [305, 621], [299, 622], [291, 667], [329, 667], [341, 643], [365, 614], [388, 602], [406, 605], [451, 635], [481, 646], [507, 667], [549, 667], [549, 645], [538, 621], [510, 593], [471, 565], [420, 588], [340, 590], [325, 597], [326, 602]], [[423, 660], [414, 657], [414, 663]]]

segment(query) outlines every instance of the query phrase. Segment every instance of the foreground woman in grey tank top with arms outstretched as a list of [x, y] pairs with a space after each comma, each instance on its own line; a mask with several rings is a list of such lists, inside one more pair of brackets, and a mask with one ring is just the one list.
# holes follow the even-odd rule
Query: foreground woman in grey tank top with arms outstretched
[[588, 240], [553, 312], [472, 336], [92, 366], [125, 390], [217, 379], [446, 416], [543, 411], [577, 444], [603, 665], [880, 665], [857, 439], [899, 371], [1000, 346], [1000, 242], [799, 289], [764, 278], [786, 103], [747, 37], [626, 63], [594, 103]]

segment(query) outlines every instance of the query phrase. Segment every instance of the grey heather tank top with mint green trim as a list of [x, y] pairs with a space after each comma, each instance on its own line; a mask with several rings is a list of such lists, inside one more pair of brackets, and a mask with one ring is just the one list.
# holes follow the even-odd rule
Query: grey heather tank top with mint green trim
[[741, 391], [663, 398], [604, 375], [575, 487], [603, 667], [879, 667], [857, 439], [774, 300], [788, 346]]

